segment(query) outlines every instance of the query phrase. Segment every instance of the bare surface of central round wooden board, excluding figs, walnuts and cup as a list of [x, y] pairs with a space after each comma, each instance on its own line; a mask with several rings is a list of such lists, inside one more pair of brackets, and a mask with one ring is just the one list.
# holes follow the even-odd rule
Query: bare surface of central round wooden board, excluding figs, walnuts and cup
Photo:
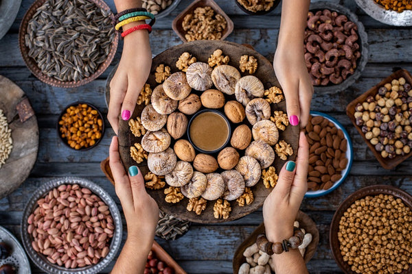
[[[207, 59], [216, 49], [221, 49], [224, 55], [229, 55], [230, 57], [229, 65], [234, 66], [237, 69], [239, 68], [240, 56], [245, 55], [245, 54], [255, 56], [255, 58], [258, 59], [258, 70], [253, 75], [258, 77], [262, 81], [265, 89], [270, 88], [271, 86], [279, 87], [279, 82], [277, 82], [275, 71], [273, 70], [273, 66], [271, 62], [266, 60], [266, 58], [260, 55], [260, 53], [254, 51], [253, 49], [249, 49], [248, 47], [244, 47], [242, 45], [238, 45], [233, 42], [212, 41], [212, 40], [187, 42], [185, 44], [178, 45], [166, 51], [163, 51], [162, 53], [157, 55], [155, 58], [153, 58], [152, 69], [150, 71], [150, 75], [148, 77], [147, 82], [148, 84], [150, 84], [150, 87], [152, 89], [154, 89], [157, 85], [159, 85], [155, 82], [155, 70], [157, 66], [159, 66], [159, 64], [165, 64], [165, 65], [170, 66], [172, 73], [178, 72], [179, 69], [176, 68], [176, 61], [179, 59], [179, 56], [185, 51], [195, 56], [198, 62], [207, 63]], [[241, 74], [242, 74], [242, 77], [249, 75], [249, 73], [241, 73]], [[201, 95], [201, 92], [198, 92], [196, 90], [192, 90], [192, 92], [198, 95]], [[234, 95], [225, 95], [225, 99], [226, 101], [236, 100]], [[133, 112], [132, 118], [134, 119], [137, 116], [140, 116], [141, 111], [144, 109], [144, 107], [145, 105], [137, 105], [135, 108], [135, 112]], [[283, 110], [284, 112], [286, 112], [286, 102], [282, 101], [278, 104], [272, 104], [271, 108], [272, 108], [272, 111]], [[203, 108], [201, 108], [201, 110], [202, 109]], [[190, 119], [190, 117], [191, 116], [187, 116], [188, 119]], [[249, 125], [249, 127], [251, 127], [247, 119], [244, 119], [243, 123], [246, 123], [247, 125]], [[236, 124], [236, 125], [240, 125], [240, 124]], [[232, 130], [234, 129], [234, 127], [236, 127], [236, 125], [231, 125]], [[183, 136], [182, 138], [187, 139], [187, 136]], [[296, 155], [297, 155], [297, 148], [299, 144], [299, 127], [293, 127], [289, 125], [288, 127], [286, 127], [286, 130], [284, 132], [282, 131], [279, 132], [279, 140], [286, 140], [286, 142], [288, 142], [288, 144], [290, 144], [293, 147], [294, 154], [290, 156], [288, 160], [295, 160]], [[120, 158], [122, 159], [122, 162], [126, 170], [130, 166], [136, 165], [135, 160], [133, 160], [130, 157], [130, 146], [132, 146], [135, 142], [141, 142], [141, 138], [137, 138], [133, 136], [132, 132], [130, 132], [127, 121], [120, 120], [119, 121], [119, 153], [120, 153]], [[170, 147], [173, 147], [173, 145], [174, 145], [174, 142], [172, 141], [172, 144], [170, 145]], [[240, 157], [244, 155], [244, 151], [239, 151], [239, 153], [240, 153]], [[282, 169], [282, 166], [284, 165], [284, 163], [285, 161], [281, 160], [280, 158], [276, 156], [273, 166], [275, 166], [276, 171], [279, 172], [280, 169]], [[147, 161], [144, 161], [141, 164], [138, 164], [138, 166], [144, 175], [149, 172]], [[220, 173], [221, 171], [222, 170], [218, 169], [218, 171], [216, 172]], [[157, 203], [159, 204], [159, 208], [163, 210], [163, 212], [176, 216], [179, 219], [192, 221], [196, 223], [223, 223], [223, 222], [239, 219], [240, 217], [246, 216], [247, 214], [260, 208], [263, 205], [264, 199], [267, 197], [267, 195], [272, 190], [272, 188], [266, 189], [264, 187], [264, 184], [262, 183], [262, 179], [260, 180], [258, 184], [253, 186], [251, 189], [255, 197], [255, 200], [253, 201], [253, 203], [251, 203], [251, 205], [249, 206], [240, 207], [238, 206], [237, 201], [230, 201], [232, 211], [230, 213], [229, 219], [226, 219], [226, 220], [214, 218], [213, 206], [214, 206], [215, 201], [207, 201], [207, 208], [205, 209], [205, 211], [202, 212], [201, 215], [196, 215], [194, 212], [188, 212], [186, 210], [186, 206], [189, 201], [189, 199], [187, 198], [183, 199], [179, 203], [172, 204], [172, 203], [165, 202], [165, 195], [163, 193], [163, 189], [162, 190], [149, 190], [148, 189], [148, 193], [157, 201]]]

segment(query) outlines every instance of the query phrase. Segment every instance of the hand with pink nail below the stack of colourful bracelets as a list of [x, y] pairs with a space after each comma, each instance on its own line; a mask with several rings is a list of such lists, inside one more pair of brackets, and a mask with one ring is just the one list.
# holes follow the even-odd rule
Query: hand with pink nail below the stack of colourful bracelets
[[[141, 22], [126, 25], [124, 30]], [[146, 29], [128, 34], [124, 38], [122, 58], [110, 82], [110, 103], [107, 119], [115, 134], [119, 129], [119, 114], [127, 121], [135, 110], [137, 97], [146, 84], [152, 66], [152, 51]]]

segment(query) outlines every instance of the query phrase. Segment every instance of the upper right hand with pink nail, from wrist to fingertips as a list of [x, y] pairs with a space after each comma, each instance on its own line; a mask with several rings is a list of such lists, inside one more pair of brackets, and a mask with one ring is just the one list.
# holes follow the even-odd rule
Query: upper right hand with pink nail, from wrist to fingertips
[[[312, 101], [313, 86], [302, 49], [277, 49], [273, 67], [280, 86], [282, 86], [286, 109], [291, 125], [306, 127], [309, 120], [310, 101]], [[301, 53], [301, 54], [300, 54]]]

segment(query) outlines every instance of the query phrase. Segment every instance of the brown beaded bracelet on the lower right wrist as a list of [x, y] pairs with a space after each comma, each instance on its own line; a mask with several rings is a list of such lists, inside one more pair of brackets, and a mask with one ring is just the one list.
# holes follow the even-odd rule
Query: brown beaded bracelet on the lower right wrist
[[297, 249], [304, 240], [304, 232], [299, 227], [293, 227], [293, 236], [289, 240], [282, 242], [269, 242], [264, 234], [260, 234], [256, 238], [256, 244], [260, 251], [267, 253], [269, 256], [280, 254], [283, 251], [288, 252], [289, 249]]

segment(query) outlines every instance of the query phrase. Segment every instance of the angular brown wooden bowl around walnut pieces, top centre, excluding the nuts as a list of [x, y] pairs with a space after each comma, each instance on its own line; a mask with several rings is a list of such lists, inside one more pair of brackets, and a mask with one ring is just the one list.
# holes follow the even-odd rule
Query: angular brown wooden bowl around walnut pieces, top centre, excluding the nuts
[[226, 29], [223, 30], [222, 38], [220, 38], [220, 40], [225, 40], [225, 38], [227, 38], [227, 36], [229, 36], [229, 34], [233, 32], [233, 21], [231, 21], [229, 16], [225, 14], [225, 12], [218, 6], [218, 4], [215, 1], [196, 0], [196, 1], [193, 1], [193, 3], [191, 3], [189, 6], [187, 6], [187, 8], [183, 10], [183, 12], [181, 12], [178, 16], [176, 16], [176, 18], [174, 18], [173, 23], [172, 23], [172, 29], [174, 30], [174, 32], [176, 32], [176, 34], [181, 38], [183, 42], [187, 42], [187, 39], [185, 38], [186, 32], [183, 30], [183, 27], [182, 27], [183, 18], [185, 18], [187, 14], [194, 12], [196, 8], [199, 8], [199, 7], [204, 8], [206, 6], [210, 6], [211, 8], [213, 8], [216, 14], [220, 14], [221, 16], [223, 16], [227, 22]]

